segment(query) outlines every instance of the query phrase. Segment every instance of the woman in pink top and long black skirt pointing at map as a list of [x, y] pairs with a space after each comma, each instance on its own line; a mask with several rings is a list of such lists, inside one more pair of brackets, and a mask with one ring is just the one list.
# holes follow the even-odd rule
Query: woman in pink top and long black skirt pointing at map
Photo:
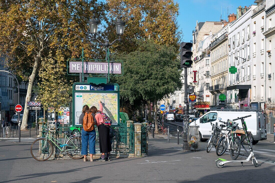
[[98, 101], [99, 110], [97, 107], [92, 106], [91, 112], [95, 113], [96, 125], [98, 127], [98, 135], [99, 135], [99, 149], [101, 153], [101, 157], [97, 159], [97, 161], [110, 161], [110, 152], [112, 150], [111, 147], [111, 138], [110, 138], [110, 126], [105, 125], [105, 121], [100, 112], [103, 111], [103, 106], [101, 101]]

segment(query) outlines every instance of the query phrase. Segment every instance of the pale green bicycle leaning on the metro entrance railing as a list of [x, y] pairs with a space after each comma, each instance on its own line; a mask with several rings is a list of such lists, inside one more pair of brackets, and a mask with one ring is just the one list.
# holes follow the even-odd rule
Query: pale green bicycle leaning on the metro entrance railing
[[[45, 129], [47, 134], [45, 138], [37, 138], [31, 145], [31, 155], [35, 160], [45, 161], [53, 154], [53, 145], [56, 146], [61, 153], [68, 154], [72, 159], [81, 159], [84, 155], [81, 155], [81, 138], [79, 135], [68, 136], [69, 131], [61, 131], [65, 134], [64, 142], [58, 141], [56, 138], [49, 135], [50, 130]], [[67, 141], [66, 141], [67, 139]]]

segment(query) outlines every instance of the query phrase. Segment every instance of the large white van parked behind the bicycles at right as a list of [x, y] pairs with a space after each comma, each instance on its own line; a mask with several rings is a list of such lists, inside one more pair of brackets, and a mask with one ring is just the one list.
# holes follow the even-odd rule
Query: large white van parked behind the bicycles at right
[[[266, 140], [266, 129], [265, 129], [265, 118], [261, 110], [254, 109], [215, 109], [210, 112], [204, 114], [202, 117], [197, 119], [196, 121], [190, 123], [190, 126], [200, 126], [199, 133], [200, 139], [202, 141], [206, 141], [210, 138], [212, 126], [211, 123], [218, 123], [218, 125], [222, 124], [219, 122], [218, 118], [222, 118], [221, 121], [227, 121], [236, 119], [238, 117], [248, 116], [251, 117], [245, 118], [247, 131], [251, 132], [253, 144], [259, 142], [259, 140]], [[241, 124], [241, 120], [235, 121], [238, 123], [240, 128], [243, 128]], [[225, 129], [225, 128], [224, 128]]]

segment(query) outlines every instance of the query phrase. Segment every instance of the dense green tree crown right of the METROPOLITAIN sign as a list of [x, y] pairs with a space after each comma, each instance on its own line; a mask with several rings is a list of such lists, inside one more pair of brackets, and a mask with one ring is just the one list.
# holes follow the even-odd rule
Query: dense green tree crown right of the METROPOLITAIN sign
[[173, 46], [152, 40], [138, 41], [138, 49], [122, 54], [124, 76], [117, 77], [120, 95], [129, 99], [157, 101], [182, 88], [182, 69]]

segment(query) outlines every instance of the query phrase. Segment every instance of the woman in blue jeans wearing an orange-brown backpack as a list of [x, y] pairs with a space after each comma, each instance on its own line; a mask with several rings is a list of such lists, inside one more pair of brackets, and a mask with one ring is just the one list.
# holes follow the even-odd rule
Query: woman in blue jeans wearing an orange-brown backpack
[[89, 154], [90, 161], [94, 161], [93, 155], [95, 154], [95, 118], [92, 116], [92, 113], [89, 109], [89, 106], [83, 106], [82, 113], [79, 117], [79, 124], [83, 125], [81, 131], [81, 154], [84, 155], [84, 161], [87, 160], [88, 155], [88, 142], [89, 142]]

